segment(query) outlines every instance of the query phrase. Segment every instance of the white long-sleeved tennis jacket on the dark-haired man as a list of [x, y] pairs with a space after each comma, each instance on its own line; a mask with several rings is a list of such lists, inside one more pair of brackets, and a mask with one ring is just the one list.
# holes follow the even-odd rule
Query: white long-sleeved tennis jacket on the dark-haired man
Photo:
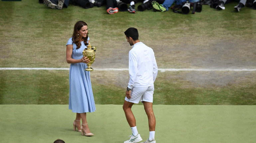
[[129, 51], [128, 88], [154, 86], [158, 73], [157, 62], [153, 49], [142, 42], [133, 45]]

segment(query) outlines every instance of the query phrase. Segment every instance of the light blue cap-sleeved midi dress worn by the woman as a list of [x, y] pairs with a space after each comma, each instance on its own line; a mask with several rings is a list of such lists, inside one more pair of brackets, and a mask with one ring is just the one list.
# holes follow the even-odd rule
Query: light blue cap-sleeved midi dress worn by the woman
[[[88, 37], [88, 40], [89, 37]], [[67, 41], [66, 45], [73, 45], [72, 58], [81, 59], [82, 51], [86, 48], [84, 42], [81, 47], [76, 49], [72, 37]], [[90, 72], [85, 71], [87, 68], [85, 63], [70, 64], [69, 68], [69, 109], [74, 113], [94, 112], [96, 110], [94, 98], [91, 88]]]

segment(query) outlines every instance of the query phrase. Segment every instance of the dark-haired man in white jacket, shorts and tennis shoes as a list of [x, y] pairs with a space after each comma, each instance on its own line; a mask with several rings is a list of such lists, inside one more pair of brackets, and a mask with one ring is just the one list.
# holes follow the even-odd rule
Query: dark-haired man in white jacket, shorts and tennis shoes
[[154, 82], [157, 77], [158, 68], [154, 51], [139, 41], [139, 33], [136, 28], [128, 28], [124, 34], [127, 42], [133, 48], [129, 52], [129, 75], [130, 80], [125, 93], [123, 105], [128, 124], [132, 129], [131, 138], [124, 143], [138, 143], [142, 141], [136, 127], [136, 120], [132, 113], [132, 105], [140, 101], [149, 121], [149, 138], [144, 143], [156, 143], [155, 127], [156, 119], [153, 112]]

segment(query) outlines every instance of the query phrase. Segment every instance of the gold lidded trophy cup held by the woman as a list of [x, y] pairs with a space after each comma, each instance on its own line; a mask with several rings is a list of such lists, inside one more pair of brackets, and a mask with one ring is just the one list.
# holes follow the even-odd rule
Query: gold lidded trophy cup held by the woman
[[91, 43], [89, 43], [88, 46], [86, 46], [87, 48], [85, 48], [83, 50], [83, 56], [87, 56], [87, 58], [89, 58], [89, 63], [87, 63], [87, 68], [84, 69], [86, 71], [92, 71], [93, 68], [91, 68], [91, 64], [94, 62], [95, 60], [95, 52], [96, 52], [96, 47], [91, 48]]

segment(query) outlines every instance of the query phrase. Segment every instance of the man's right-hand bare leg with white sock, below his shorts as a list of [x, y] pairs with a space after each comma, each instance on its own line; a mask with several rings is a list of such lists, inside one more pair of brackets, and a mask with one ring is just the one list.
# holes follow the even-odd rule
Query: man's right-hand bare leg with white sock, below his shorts
[[[153, 103], [143, 101], [144, 109], [148, 116], [149, 122], [149, 141], [155, 140], [155, 128], [156, 128], [156, 118], [153, 112]], [[155, 141], [154, 141], [155, 142]]]

